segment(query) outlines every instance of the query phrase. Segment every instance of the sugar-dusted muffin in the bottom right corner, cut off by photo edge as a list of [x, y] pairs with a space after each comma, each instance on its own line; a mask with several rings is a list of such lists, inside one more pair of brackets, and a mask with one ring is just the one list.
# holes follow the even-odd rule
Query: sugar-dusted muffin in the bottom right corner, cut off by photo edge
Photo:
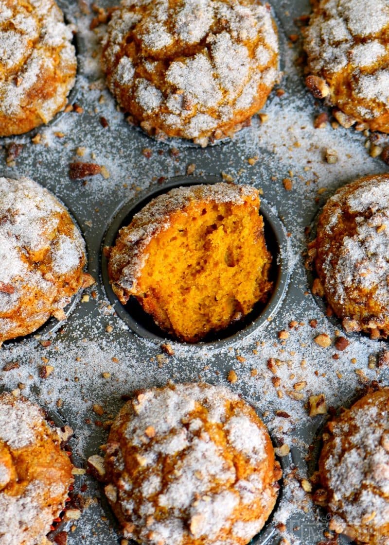
[[362, 397], [328, 423], [320, 480], [331, 530], [357, 543], [389, 542], [389, 389]]

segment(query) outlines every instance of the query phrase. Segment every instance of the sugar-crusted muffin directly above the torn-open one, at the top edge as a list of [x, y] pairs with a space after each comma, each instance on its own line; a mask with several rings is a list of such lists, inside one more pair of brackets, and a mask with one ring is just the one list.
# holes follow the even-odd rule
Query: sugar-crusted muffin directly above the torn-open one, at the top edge
[[276, 25], [258, 0], [123, 0], [103, 68], [133, 122], [206, 146], [264, 106], [278, 79]]

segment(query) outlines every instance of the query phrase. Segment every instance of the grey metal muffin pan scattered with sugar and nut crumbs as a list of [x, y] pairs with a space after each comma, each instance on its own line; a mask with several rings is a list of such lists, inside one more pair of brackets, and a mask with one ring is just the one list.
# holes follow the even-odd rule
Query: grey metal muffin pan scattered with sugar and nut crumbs
[[[60, 328], [51, 333], [37, 332], [38, 336], [44, 333], [50, 346], [42, 346], [37, 335], [4, 345], [0, 350], [0, 389], [19, 387], [23, 395], [49, 412], [57, 411], [75, 431], [71, 446], [76, 464], [86, 467], [88, 456], [97, 453], [106, 441], [105, 422], [117, 414], [123, 404], [122, 396], [141, 387], [164, 385], [168, 380], [206, 380], [228, 385], [226, 377], [234, 369], [238, 380], [230, 385], [231, 389], [263, 416], [274, 443], [287, 443], [291, 449], [289, 457], [282, 460], [284, 481], [279, 502], [253, 545], [278, 545], [282, 538], [304, 545], [325, 542], [326, 513], [313, 506], [300, 484], [312, 467], [308, 467], [306, 459], [309, 446], [325, 421], [325, 417], [308, 416], [307, 399], [309, 395], [325, 393], [328, 406], [338, 408], [369, 381], [389, 384], [387, 370], [368, 367], [369, 355], [386, 348], [387, 343], [344, 332], [342, 335], [350, 341], [344, 352], [337, 353], [333, 346], [323, 349], [314, 343], [320, 332], [335, 338], [340, 327], [325, 316], [324, 308], [316, 304], [310, 291], [309, 275], [304, 268], [304, 228], [337, 187], [362, 175], [385, 171], [386, 167], [368, 156], [363, 135], [352, 129], [333, 130], [330, 125], [313, 129], [313, 119], [324, 106], [316, 104], [305, 89], [303, 65], [298, 60], [301, 45], [298, 41], [292, 45], [288, 39], [289, 35], [298, 34], [295, 20], [309, 13], [309, 1], [271, 2], [279, 24], [284, 70], [279, 87], [285, 93], [279, 97], [273, 92], [268, 99], [264, 108], [268, 122], [261, 124], [254, 118], [252, 126], [234, 140], [205, 149], [179, 141], [155, 141], [130, 126], [123, 113], [117, 111], [99, 68], [99, 35], [104, 28], [89, 30], [93, 14], [85, 13], [88, 4], [83, 0], [59, 3], [67, 19], [78, 27], [76, 86], [77, 103], [83, 113], [60, 114], [48, 126], [39, 128], [40, 144], [33, 144], [31, 135], [0, 141], [0, 174], [11, 178], [28, 175], [61, 199], [85, 237], [88, 272], [97, 283], [87, 290], [88, 301], [82, 298], [75, 302]], [[110, 7], [115, 2], [104, 0], [100, 5]], [[109, 123], [106, 129], [101, 126], [101, 117]], [[58, 132], [64, 136], [56, 136]], [[5, 161], [5, 147], [11, 142], [23, 144], [15, 167], [7, 166]], [[176, 148], [173, 153], [172, 146]], [[143, 155], [145, 148], [151, 150], [151, 157], [149, 153]], [[337, 150], [337, 164], [328, 165], [323, 160], [327, 148]], [[251, 165], [249, 158], [258, 160]], [[75, 160], [104, 165], [108, 175], [97, 175], [85, 182], [70, 180], [69, 164]], [[161, 354], [163, 336], [140, 329], [134, 333], [137, 324], [131, 325], [127, 312], [113, 301], [104, 282], [101, 247], [115, 238], [133, 204], [149, 198], [155, 188], [167, 191], [177, 183], [177, 176], [185, 175], [189, 164], [195, 164], [194, 175], [186, 177], [193, 183], [209, 176], [220, 179], [223, 172], [237, 183], [252, 184], [262, 190], [261, 213], [282, 245], [277, 263], [282, 271], [282, 289], [276, 290], [277, 300], [269, 305], [271, 311], [269, 307], [265, 310], [268, 314], [264, 323], [253, 317], [254, 323], [247, 324], [235, 337], [216, 342], [194, 346], [171, 342], [175, 355], [167, 356]], [[284, 189], [285, 178], [293, 181], [291, 191]], [[161, 183], [157, 184], [157, 180]], [[278, 295], [282, 290], [283, 299]], [[317, 321], [315, 328], [309, 325], [313, 319]], [[258, 320], [261, 322], [261, 318]], [[284, 340], [278, 335], [282, 330], [289, 334]], [[333, 355], [338, 359], [333, 359]], [[274, 387], [274, 376], [267, 367], [269, 358], [281, 362], [278, 388]], [[54, 371], [49, 378], [41, 379], [40, 367], [46, 360]], [[4, 371], [6, 364], [16, 361], [18, 366]], [[110, 378], [104, 378], [103, 373]], [[294, 383], [302, 380], [307, 385], [303, 399], [298, 400], [291, 392]], [[104, 410], [103, 415], [93, 410], [97, 405]], [[277, 416], [276, 411], [288, 417]], [[74, 531], [69, 532], [68, 544], [120, 543], [100, 485], [86, 474], [76, 480], [76, 486], [88, 507], [75, 522]], [[339, 540], [348, 541], [343, 537]]]

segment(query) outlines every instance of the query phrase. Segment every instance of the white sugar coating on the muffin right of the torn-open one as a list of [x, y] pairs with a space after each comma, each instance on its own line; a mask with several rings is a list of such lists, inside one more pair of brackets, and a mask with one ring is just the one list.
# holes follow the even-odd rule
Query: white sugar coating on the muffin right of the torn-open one
[[[320, 252], [326, 256], [323, 265], [326, 289], [335, 294], [333, 296], [341, 305], [355, 298], [359, 300], [359, 292], [355, 292], [358, 288], [368, 290], [379, 305], [378, 319], [386, 316], [389, 307], [388, 199], [387, 177], [370, 178], [343, 187], [326, 205], [326, 209], [331, 210], [331, 217], [322, 226], [326, 238], [320, 238], [324, 240]], [[349, 214], [355, 217], [355, 227], [342, 233], [339, 244], [332, 246], [334, 226]]]

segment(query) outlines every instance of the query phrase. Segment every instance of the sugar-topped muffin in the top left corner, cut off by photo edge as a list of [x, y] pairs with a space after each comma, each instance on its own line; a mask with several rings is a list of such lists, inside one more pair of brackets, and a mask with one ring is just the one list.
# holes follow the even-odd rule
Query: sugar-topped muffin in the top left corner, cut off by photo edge
[[54, 0], [0, 0], [0, 136], [64, 108], [77, 69], [72, 38]]

